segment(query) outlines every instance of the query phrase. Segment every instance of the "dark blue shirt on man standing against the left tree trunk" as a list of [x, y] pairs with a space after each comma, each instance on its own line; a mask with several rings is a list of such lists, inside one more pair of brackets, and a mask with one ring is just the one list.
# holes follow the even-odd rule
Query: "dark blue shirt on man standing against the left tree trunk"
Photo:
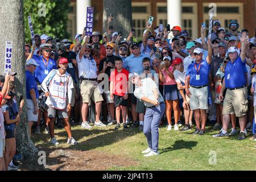
[[30, 90], [34, 89], [36, 94], [36, 99], [39, 98], [39, 92], [38, 92], [38, 86], [36, 85], [35, 77], [32, 73], [29, 71], [26, 71], [26, 93], [27, 93], [27, 99], [32, 100], [32, 97], [30, 95]]

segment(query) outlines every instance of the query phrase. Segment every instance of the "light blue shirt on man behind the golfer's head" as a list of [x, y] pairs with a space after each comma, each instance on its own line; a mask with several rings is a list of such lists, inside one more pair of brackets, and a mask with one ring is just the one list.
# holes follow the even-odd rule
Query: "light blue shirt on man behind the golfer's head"
[[138, 57], [134, 55], [126, 57], [125, 61], [123, 61], [123, 68], [127, 69], [129, 73], [139, 73], [143, 70], [142, 60], [144, 57], [148, 57], [150, 59], [149, 55], [144, 55], [143, 53]]

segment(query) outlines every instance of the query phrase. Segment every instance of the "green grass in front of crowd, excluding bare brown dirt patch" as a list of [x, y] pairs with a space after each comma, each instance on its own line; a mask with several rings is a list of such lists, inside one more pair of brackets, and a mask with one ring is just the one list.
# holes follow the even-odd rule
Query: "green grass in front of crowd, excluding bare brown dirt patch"
[[[72, 127], [72, 135], [78, 140], [78, 146], [68, 146], [67, 135], [56, 129], [56, 137], [60, 147], [80, 151], [100, 151], [106, 154], [123, 155], [135, 160], [137, 166], [112, 167], [109, 170], [255, 170], [256, 142], [247, 137], [237, 140], [237, 135], [226, 138], [213, 138], [216, 131], [207, 128], [205, 135], [192, 135], [194, 130], [159, 131], [159, 156], [144, 158], [141, 151], [147, 148], [146, 137], [138, 129], [122, 129], [116, 131], [114, 126], [106, 128], [93, 127], [91, 130]], [[38, 136], [38, 135], [36, 135]], [[52, 147], [47, 135], [34, 137], [36, 146]], [[216, 152], [217, 164], [209, 164], [209, 152]]]

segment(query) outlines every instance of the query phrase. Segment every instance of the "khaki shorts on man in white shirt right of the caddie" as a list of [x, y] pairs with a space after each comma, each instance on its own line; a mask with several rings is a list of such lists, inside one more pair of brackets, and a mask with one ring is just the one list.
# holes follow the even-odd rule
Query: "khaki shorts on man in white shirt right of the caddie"
[[94, 102], [103, 101], [97, 81], [82, 80], [80, 89], [81, 89], [82, 103], [89, 103], [90, 98], [92, 98]]

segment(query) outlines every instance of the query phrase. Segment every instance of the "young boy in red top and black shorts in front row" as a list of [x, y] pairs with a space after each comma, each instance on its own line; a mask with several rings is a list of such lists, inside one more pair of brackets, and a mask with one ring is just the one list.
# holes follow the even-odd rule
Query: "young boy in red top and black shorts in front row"
[[115, 117], [117, 119], [118, 130], [120, 125], [120, 115], [122, 110], [123, 129], [127, 129], [126, 113], [128, 105], [128, 80], [129, 72], [123, 68], [123, 60], [120, 57], [115, 57], [115, 70], [110, 73], [110, 98], [114, 100]]

